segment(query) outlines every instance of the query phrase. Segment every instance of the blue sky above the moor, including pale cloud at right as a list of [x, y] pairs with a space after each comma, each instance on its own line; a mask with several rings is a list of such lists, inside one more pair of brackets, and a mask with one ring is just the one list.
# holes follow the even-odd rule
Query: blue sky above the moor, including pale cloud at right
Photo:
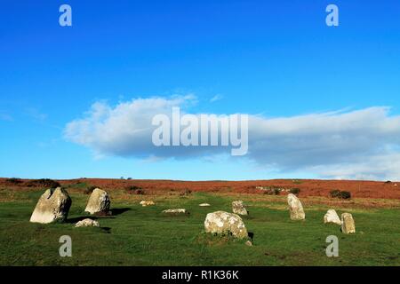
[[[61, 4], [72, 7], [72, 27], [59, 25]], [[339, 27], [325, 25], [328, 4], [339, 7]], [[396, 0], [3, 1], [0, 176], [396, 179], [399, 19]], [[188, 94], [194, 114], [260, 115], [263, 131], [268, 119], [285, 128], [285, 118], [312, 135], [267, 135], [275, 144], [258, 141], [238, 159], [104, 154], [66, 137], [93, 104]], [[325, 133], [332, 123], [356, 126]]]

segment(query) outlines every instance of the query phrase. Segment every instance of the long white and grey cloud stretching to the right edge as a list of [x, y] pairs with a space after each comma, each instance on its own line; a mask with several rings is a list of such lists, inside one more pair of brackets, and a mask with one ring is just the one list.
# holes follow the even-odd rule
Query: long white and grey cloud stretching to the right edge
[[[153, 146], [155, 114], [185, 108], [192, 95], [133, 99], [109, 106], [97, 102], [84, 118], [69, 122], [65, 136], [100, 155], [143, 159], [194, 158], [226, 154], [226, 147]], [[320, 177], [400, 179], [400, 116], [388, 107], [305, 114], [249, 117], [249, 153], [245, 158], [266, 169], [307, 170]], [[231, 159], [237, 159], [232, 157]]]

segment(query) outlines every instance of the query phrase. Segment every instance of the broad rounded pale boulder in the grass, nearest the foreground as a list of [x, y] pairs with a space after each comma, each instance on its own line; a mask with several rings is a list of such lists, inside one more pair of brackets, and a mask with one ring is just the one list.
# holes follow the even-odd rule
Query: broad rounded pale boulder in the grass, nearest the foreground
[[204, 229], [206, 233], [231, 233], [238, 239], [248, 237], [242, 218], [225, 211], [208, 213], [204, 220]]

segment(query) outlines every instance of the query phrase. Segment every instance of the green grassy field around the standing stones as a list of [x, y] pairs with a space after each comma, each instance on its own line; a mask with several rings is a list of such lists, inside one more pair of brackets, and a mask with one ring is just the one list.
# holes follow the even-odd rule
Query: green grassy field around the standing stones
[[[86, 217], [89, 195], [68, 189], [72, 198], [68, 222], [29, 223], [41, 190], [0, 190], [0, 265], [399, 265], [399, 204], [365, 200], [336, 207], [350, 212], [356, 233], [340, 233], [338, 225], [324, 225], [328, 205], [321, 198], [301, 199], [306, 221], [291, 221], [285, 196], [235, 193], [134, 195], [110, 193], [113, 216], [98, 217], [101, 228], [75, 228]], [[301, 196], [300, 196], [301, 198]], [[140, 200], [156, 201], [141, 207]], [[245, 241], [204, 233], [204, 218], [216, 210], [230, 210], [230, 202], [244, 200], [250, 211], [243, 217], [253, 246]], [[209, 208], [198, 204], [208, 202]], [[346, 208], [347, 207], [347, 208]], [[185, 208], [188, 216], [164, 216], [168, 208]], [[60, 236], [72, 238], [72, 257], [60, 257]], [[339, 238], [339, 257], [327, 257], [328, 235]]]

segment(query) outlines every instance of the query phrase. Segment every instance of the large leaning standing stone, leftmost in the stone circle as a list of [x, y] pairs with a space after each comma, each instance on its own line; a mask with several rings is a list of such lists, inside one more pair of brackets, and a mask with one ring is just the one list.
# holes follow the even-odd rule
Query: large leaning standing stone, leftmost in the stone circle
[[71, 198], [61, 187], [46, 190], [37, 201], [36, 208], [30, 217], [32, 223], [49, 224], [54, 221], [65, 221], [71, 207]]

